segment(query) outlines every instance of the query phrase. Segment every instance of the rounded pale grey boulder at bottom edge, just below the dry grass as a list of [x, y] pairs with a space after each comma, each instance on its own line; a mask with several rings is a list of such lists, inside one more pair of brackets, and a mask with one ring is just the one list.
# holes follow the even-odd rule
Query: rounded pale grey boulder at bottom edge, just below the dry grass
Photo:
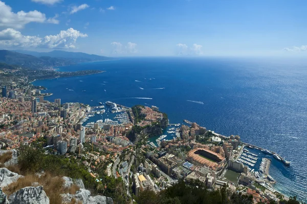
[[41, 186], [26, 187], [19, 189], [7, 199], [7, 203], [20, 203], [20, 204], [49, 204], [49, 197]]

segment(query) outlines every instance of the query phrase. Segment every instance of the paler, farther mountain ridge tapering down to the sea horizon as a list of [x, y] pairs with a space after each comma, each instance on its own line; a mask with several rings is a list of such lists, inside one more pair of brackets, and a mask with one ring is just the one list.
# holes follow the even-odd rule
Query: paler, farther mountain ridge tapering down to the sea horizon
[[91, 62], [91, 61], [103, 61], [110, 59], [109, 57], [99, 56], [99, 55], [90, 55], [81, 52], [66, 52], [61, 50], [54, 50], [51, 52], [34, 52], [27, 50], [15, 50], [15, 52], [33, 55], [36, 57], [48, 56], [48, 57], [56, 57], [56, 58], [65, 58], [70, 59], [74, 62]]

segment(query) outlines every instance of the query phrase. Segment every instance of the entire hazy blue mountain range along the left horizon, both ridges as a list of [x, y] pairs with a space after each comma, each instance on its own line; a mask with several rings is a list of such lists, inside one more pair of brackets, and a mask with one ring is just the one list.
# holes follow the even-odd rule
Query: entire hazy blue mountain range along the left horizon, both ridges
[[32, 69], [48, 69], [81, 62], [103, 61], [111, 59], [105, 56], [90, 55], [55, 50], [52, 52], [34, 52], [26, 50], [0, 50], [0, 62], [20, 65]]

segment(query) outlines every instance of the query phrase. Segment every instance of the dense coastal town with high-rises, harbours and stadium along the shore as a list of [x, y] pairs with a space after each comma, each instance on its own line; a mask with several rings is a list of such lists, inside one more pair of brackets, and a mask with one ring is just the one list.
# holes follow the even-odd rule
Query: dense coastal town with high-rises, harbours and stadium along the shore
[[180, 180], [215, 190], [228, 186], [252, 196], [254, 203], [288, 199], [274, 189], [269, 170], [272, 160], [286, 167], [290, 163], [242, 142], [238, 135], [226, 137], [187, 120], [170, 124], [156, 106], [48, 101], [51, 93], [42, 94], [42, 89], [31, 84], [2, 86], [1, 149], [38, 143], [46, 154], [74, 157], [96, 182], [103, 176], [122, 178], [131, 200]]

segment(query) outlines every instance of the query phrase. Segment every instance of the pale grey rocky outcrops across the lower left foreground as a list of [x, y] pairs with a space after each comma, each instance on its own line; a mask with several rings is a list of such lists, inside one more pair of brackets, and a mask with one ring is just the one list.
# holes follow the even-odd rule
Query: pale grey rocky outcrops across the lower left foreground
[[[17, 150], [11, 150], [12, 157], [9, 161], [6, 161], [2, 166], [10, 166], [17, 164]], [[0, 155], [7, 151], [0, 150]], [[29, 161], [30, 162], [30, 161]], [[9, 167], [8, 167], [9, 168]], [[36, 177], [41, 177], [45, 173], [37, 173]], [[47, 193], [44, 191], [44, 186], [40, 185], [36, 180], [30, 183], [31, 186], [23, 186], [23, 179], [26, 176], [19, 175], [18, 173], [12, 172], [7, 168], [0, 168], [0, 204], [2, 203], [33, 203], [33, 204], [48, 204], [51, 203]], [[62, 203], [85, 203], [85, 204], [113, 204], [113, 199], [101, 195], [91, 196], [91, 192], [84, 188], [82, 179], [72, 179], [70, 177], [55, 177], [61, 180], [62, 188], [69, 189], [73, 185], [77, 186], [77, 191], [74, 194], [65, 193], [59, 194]], [[21, 179], [21, 180], [20, 180]], [[17, 185], [20, 183], [19, 185]], [[42, 184], [42, 182], [40, 182]], [[19, 187], [19, 188], [18, 188]], [[24, 188], [21, 188], [24, 187]], [[46, 189], [45, 189], [46, 190]], [[8, 193], [11, 192], [11, 193]], [[6, 194], [8, 193], [8, 194]]]

